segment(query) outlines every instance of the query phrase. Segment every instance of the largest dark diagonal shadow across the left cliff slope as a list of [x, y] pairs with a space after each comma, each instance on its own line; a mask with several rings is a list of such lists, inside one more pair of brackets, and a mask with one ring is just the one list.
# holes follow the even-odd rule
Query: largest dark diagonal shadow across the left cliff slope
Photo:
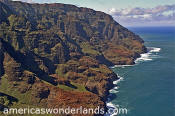
[[[30, 72], [35, 73], [36, 76], [39, 77], [41, 80], [47, 81], [52, 85], [57, 85], [55, 78], [49, 76], [46, 72], [44, 72], [39, 68], [39, 66], [37, 65], [37, 62], [34, 59], [35, 54], [33, 52], [29, 51], [29, 52], [26, 52], [24, 55], [19, 51], [15, 51], [15, 49], [8, 42], [5, 42], [2, 40], [2, 43], [3, 43], [4, 50], [11, 57], [13, 57], [16, 62], [21, 63], [21, 66], [23, 67], [24, 70], [29, 70]], [[49, 63], [50, 61], [47, 60], [47, 64]]]

